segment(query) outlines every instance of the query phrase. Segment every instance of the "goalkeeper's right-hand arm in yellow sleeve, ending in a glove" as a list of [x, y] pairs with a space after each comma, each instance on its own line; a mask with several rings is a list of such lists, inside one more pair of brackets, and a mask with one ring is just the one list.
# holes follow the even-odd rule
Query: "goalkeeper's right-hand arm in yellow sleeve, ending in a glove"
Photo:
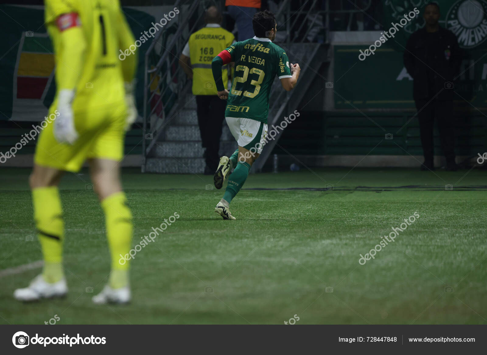
[[[135, 46], [135, 38], [132, 31], [127, 24], [125, 16], [122, 11], [119, 11], [118, 18], [118, 45], [120, 49], [125, 51]], [[125, 56], [122, 60], [122, 75], [125, 82], [125, 102], [127, 103], [127, 118], [125, 122], [125, 130], [128, 131], [132, 124], [137, 119], [137, 106], [135, 105], [135, 74], [137, 72], [137, 56]]]

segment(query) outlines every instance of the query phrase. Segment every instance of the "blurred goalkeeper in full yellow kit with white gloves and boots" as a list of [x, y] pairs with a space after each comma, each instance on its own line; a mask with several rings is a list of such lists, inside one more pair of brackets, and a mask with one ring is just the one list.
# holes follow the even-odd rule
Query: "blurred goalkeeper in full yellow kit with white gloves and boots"
[[[62, 267], [64, 220], [58, 184], [64, 171], [90, 166], [94, 191], [105, 214], [111, 254], [108, 285], [95, 303], [131, 299], [129, 262], [131, 211], [120, 182], [125, 131], [136, 118], [132, 90], [136, 55], [118, 59], [135, 39], [119, 0], [45, 0], [45, 24], [53, 41], [56, 97], [49, 113], [58, 116], [40, 134], [30, 187], [44, 268], [16, 299], [61, 297], [68, 287]], [[107, 270], [108, 273], [108, 270]]]

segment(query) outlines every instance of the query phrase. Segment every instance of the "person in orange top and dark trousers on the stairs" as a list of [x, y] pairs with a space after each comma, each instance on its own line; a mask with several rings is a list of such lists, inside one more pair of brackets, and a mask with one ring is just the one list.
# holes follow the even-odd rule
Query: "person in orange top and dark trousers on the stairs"
[[238, 29], [238, 41], [254, 37], [252, 19], [261, 8], [261, 0], [225, 0], [228, 15], [234, 19]]

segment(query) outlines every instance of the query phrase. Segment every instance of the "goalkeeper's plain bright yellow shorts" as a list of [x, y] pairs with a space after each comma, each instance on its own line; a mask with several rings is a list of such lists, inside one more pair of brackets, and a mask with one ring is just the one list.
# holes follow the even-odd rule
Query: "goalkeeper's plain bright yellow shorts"
[[90, 158], [122, 160], [127, 110], [125, 102], [104, 105], [90, 112], [74, 109], [75, 128], [79, 136], [73, 145], [58, 143], [54, 137], [52, 121], [57, 117], [55, 108], [53, 104], [46, 116], [51, 123], [46, 125], [44, 120], [36, 127], [40, 136], [34, 155], [35, 164], [76, 172]]

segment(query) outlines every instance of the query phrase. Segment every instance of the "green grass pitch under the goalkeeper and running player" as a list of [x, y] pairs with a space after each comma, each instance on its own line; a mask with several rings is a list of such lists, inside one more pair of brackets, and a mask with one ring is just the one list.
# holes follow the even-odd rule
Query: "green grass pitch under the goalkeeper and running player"
[[[29, 172], [0, 169], [2, 324], [44, 324], [55, 315], [58, 324], [283, 324], [294, 315], [296, 324], [487, 323], [485, 171], [251, 174], [231, 204], [237, 220], [223, 221], [213, 209], [224, 190], [206, 189], [212, 176], [125, 169], [132, 245], [180, 215], [132, 261], [128, 306], [91, 302], [107, 281], [109, 253], [84, 170], [60, 187], [69, 295], [13, 299], [40, 271], [11, 272], [41, 259], [37, 237], [26, 241], [35, 235]], [[395, 242], [358, 263], [414, 212], [420, 217]]]

